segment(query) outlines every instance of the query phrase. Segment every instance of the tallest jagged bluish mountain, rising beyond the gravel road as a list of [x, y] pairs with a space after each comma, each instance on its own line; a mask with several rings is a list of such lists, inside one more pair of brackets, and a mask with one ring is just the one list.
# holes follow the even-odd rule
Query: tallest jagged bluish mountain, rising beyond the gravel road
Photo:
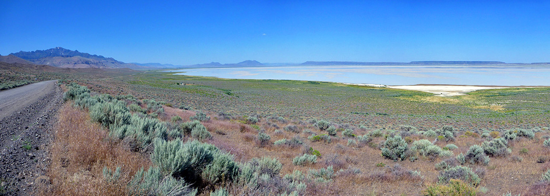
[[81, 53], [78, 50], [68, 50], [61, 47], [47, 50], [19, 51], [10, 55], [20, 57], [34, 64], [67, 68], [131, 68], [145, 69], [150, 67], [127, 64], [111, 57]]

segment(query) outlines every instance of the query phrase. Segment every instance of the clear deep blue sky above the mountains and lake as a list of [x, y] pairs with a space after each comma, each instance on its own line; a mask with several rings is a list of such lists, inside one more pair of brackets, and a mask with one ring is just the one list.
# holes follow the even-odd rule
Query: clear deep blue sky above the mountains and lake
[[[200, 3], [199, 3], [200, 2]], [[547, 1], [4, 1], [0, 54], [124, 62], [550, 61]]]

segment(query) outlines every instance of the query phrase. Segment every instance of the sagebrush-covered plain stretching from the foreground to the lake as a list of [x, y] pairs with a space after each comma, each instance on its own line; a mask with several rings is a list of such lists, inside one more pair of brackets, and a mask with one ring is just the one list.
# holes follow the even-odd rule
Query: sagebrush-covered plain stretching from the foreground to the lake
[[[148, 79], [153, 76], [163, 79]], [[124, 92], [112, 95], [69, 84], [65, 96], [75, 112], [87, 113], [87, 121], [103, 131], [101, 142], [146, 163], [129, 169], [112, 158], [113, 163], [94, 166], [86, 179], [117, 187], [120, 194], [441, 195], [462, 190], [459, 195], [529, 195], [547, 184], [541, 180], [550, 168], [550, 148], [544, 144], [547, 106], [538, 103], [512, 115], [467, 105], [474, 103], [420, 102], [419, 96], [427, 96], [422, 93], [331, 83], [221, 82], [158, 73], [122, 82], [117, 88]], [[91, 89], [109, 85], [79, 83], [95, 84]], [[284, 90], [296, 86], [304, 90]], [[232, 95], [218, 94], [220, 89]], [[467, 96], [546, 99], [487, 96], [492, 94]], [[367, 103], [380, 105], [366, 109]], [[511, 102], [507, 107], [527, 106]], [[524, 122], [516, 123], [516, 117]]]

